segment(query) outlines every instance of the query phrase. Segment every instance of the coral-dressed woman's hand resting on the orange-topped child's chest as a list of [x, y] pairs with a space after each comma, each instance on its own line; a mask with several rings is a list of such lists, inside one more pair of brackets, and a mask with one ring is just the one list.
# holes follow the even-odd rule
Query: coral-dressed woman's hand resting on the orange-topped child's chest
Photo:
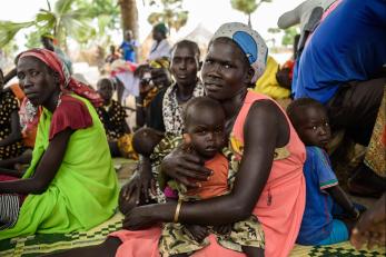
[[164, 158], [161, 170], [167, 176], [190, 188], [199, 187], [199, 182], [195, 180], [206, 181], [212, 174], [210, 169], [204, 167], [201, 158], [187, 152], [184, 147], [175, 149]]

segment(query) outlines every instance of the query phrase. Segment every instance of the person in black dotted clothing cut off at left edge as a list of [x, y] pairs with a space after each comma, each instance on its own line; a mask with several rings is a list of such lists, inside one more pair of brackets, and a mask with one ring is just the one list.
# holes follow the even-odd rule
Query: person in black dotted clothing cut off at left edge
[[11, 90], [3, 90], [3, 86], [4, 77], [0, 69], [0, 160], [18, 157], [23, 151], [19, 102]]

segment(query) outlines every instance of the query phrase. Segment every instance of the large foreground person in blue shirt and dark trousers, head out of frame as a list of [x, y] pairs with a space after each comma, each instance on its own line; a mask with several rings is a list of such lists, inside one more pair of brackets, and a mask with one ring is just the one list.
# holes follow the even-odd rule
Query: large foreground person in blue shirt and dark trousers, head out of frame
[[[295, 99], [325, 105], [333, 131], [345, 130], [368, 146], [386, 85], [386, 2], [349, 0], [334, 7], [295, 67], [293, 91]], [[375, 171], [362, 164], [349, 179], [350, 192], [380, 196], [386, 179]]]

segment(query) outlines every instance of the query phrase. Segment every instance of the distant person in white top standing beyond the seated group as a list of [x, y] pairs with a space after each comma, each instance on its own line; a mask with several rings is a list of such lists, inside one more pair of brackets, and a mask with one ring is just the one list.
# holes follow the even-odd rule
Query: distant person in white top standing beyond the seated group
[[148, 60], [155, 60], [161, 57], [170, 58], [170, 45], [167, 40], [168, 28], [165, 23], [158, 23], [152, 27], [152, 40], [154, 43], [150, 48]]

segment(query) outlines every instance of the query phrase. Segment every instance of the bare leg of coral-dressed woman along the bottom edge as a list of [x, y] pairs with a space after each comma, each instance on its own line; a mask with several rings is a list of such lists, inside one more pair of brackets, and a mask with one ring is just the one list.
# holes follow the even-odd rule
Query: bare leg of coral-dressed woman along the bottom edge
[[115, 257], [121, 240], [117, 237], [108, 237], [102, 244], [97, 246], [87, 246], [82, 248], [75, 248], [59, 254], [44, 255], [52, 257]]

